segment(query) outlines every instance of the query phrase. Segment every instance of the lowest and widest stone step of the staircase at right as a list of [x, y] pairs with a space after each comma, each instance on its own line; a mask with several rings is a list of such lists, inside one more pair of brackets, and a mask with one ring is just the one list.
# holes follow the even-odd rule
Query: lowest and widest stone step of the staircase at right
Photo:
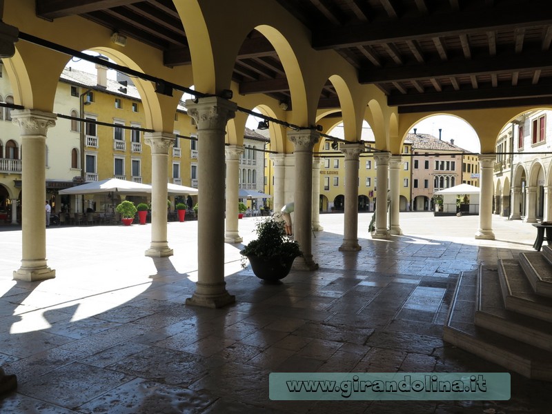
[[475, 326], [476, 279], [475, 272], [464, 272], [458, 278], [444, 341], [531, 379], [552, 381], [551, 353]]

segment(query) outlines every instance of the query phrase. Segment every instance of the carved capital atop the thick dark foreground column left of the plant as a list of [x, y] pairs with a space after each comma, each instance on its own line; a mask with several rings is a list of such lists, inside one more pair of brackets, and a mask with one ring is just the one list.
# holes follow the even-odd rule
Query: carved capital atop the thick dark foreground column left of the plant
[[188, 115], [195, 120], [198, 130], [226, 130], [228, 119], [236, 115], [237, 103], [220, 97], [199, 98], [197, 103], [188, 99], [186, 109]]

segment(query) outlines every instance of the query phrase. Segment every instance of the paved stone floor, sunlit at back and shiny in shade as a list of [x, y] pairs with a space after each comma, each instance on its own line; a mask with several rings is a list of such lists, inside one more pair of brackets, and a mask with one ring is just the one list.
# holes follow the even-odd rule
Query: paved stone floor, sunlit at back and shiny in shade
[[[270, 372], [504, 372], [442, 341], [464, 270], [532, 250], [535, 229], [493, 216], [402, 213], [403, 236], [373, 240], [359, 216], [357, 253], [342, 253], [343, 215], [322, 215], [319, 270], [259, 283], [226, 244], [236, 303], [185, 306], [197, 279], [197, 221], [168, 224], [170, 258], [144, 256], [150, 225], [47, 230], [44, 282], [15, 282], [21, 230], [0, 230], [0, 366], [19, 379], [0, 413], [549, 413], [551, 384], [512, 373], [511, 400], [282, 402]], [[239, 221], [244, 242], [255, 218]]]

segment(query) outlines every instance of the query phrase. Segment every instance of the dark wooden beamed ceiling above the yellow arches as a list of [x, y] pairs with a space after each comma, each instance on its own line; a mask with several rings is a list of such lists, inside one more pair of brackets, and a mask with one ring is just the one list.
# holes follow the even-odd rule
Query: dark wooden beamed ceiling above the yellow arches
[[[549, 105], [552, 102], [550, 0], [278, 0], [399, 112]], [[40, 0], [45, 19], [79, 14], [164, 52], [166, 66], [188, 65], [186, 28], [172, 0]], [[241, 94], [290, 102], [282, 63], [259, 32], [245, 39], [233, 80]], [[319, 108], [339, 107], [327, 83]]]

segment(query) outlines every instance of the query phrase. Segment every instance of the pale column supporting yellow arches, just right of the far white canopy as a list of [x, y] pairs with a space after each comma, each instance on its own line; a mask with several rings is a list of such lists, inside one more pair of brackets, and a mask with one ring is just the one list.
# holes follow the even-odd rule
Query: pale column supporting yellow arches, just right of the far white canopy
[[495, 155], [482, 154], [479, 156], [481, 171], [481, 193], [479, 200], [479, 229], [475, 233], [476, 239], [494, 240], [493, 233], [493, 175], [496, 162]]

